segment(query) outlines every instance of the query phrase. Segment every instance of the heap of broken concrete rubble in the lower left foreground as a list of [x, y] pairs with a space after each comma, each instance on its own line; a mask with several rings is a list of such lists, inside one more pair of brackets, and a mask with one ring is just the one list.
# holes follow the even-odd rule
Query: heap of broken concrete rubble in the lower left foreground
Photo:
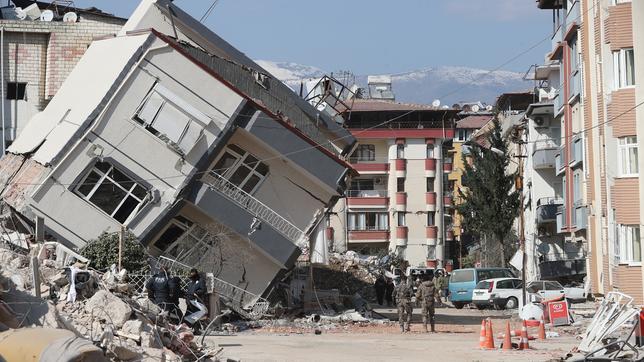
[[[40, 263], [42, 298], [32, 296], [29, 257], [0, 248], [0, 328], [62, 328], [101, 347], [113, 360], [208, 361], [214, 350], [197, 343], [193, 330], [168, 321], [159, 307], [138, 296], [127, 272], [105, 274], [76, 263]], [[12, 308], [12, 305], [15, 307]]]

